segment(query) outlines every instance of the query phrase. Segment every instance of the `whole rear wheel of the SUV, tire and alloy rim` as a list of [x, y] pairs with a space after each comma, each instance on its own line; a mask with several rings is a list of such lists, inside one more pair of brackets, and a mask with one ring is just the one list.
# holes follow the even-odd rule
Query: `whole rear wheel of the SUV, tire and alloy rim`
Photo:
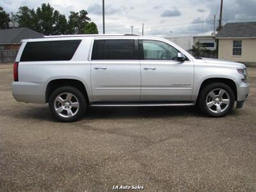
[[77, 88], [62, 86], [49, 97], [49, 108], [61, 122], [74, 122], [84, 114], [86, 100]]

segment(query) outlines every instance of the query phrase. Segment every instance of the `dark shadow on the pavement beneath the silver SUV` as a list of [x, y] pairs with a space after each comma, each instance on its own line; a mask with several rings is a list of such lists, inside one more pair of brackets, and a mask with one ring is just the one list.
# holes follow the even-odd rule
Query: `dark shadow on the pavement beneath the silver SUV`
[[[51, 115], [47, 106], [33, 106], [20, 108], [19, 113], [12, 113], [16, 118], [33, 120], [47, 120], [58, 122]], [[94, 107], [87, 108], [81, 120], [120, 119], [120, 118], [172, 118], [172, 117], [203, 117], [195, 106], [189, 107]]]

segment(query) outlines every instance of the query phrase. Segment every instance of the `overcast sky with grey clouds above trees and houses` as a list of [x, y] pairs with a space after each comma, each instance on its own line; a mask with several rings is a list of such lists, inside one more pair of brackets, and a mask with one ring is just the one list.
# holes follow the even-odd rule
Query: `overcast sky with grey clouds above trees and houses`
[[[223, 22], [256, 21], [256, 0], [223, 0]], [[102, 0], [0, 0], [7, 12], [17, 12], [19, 6], [36, 8], [42, 3], [50, 3], [67, 17], [70, 11], [87, 10], [88, 17], [102, 33]], [[220, 0], [105, 0], [106, 33], [144, 35], [184, 36], [202, 35], [204, 15], [204, 35], [213, 31], [213, 15], [216, 26], [220, 17]]]

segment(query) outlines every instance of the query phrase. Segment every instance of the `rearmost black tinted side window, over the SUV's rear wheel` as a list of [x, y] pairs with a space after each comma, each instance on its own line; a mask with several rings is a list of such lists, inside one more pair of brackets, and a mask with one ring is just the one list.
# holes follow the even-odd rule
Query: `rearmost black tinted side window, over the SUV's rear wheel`
[[28, 42], [20, 61], [68, 61], [80, 43], [81, 40]]

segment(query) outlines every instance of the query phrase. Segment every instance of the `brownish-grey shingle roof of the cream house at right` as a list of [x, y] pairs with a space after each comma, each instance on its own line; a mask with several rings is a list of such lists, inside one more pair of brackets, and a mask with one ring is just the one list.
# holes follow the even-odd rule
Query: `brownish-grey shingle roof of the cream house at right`
[[216, 38], [233, 37], [256, 37], [256, 22], [229, 22], [216, 35]]

